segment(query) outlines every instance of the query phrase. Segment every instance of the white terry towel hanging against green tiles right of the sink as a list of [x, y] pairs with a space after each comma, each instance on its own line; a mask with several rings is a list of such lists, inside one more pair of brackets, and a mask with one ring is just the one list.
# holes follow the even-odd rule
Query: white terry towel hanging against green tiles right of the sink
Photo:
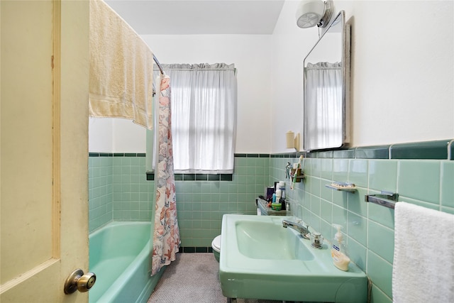
[[393, 302], [454, 302], [454, 215], [398, 202]]

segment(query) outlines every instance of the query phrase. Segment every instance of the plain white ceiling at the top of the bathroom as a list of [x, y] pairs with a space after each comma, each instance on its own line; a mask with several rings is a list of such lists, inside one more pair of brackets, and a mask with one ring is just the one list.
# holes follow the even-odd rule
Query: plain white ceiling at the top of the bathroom
[[105, 0], [139, 35], [272, 34], [284, 0]]

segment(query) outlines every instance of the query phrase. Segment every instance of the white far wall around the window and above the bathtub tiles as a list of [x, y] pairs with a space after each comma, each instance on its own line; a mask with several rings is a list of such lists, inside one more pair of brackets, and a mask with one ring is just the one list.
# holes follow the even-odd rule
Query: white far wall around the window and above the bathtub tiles
[[[272, 48], [271, 35], [143, 35], [161, 63], [235, 63], [238, 79], [238, 125], [236, 153], [270, 153], [271, 151], [271, 93], [272, 93]], [[126, 136], [117, 137], [120, 125], [114, 119], [112, 127], [116, 136], [109, 146], [108, 141], [99, 141], [98, 133], [109, 133], [109, 125], [90, 123], [90, 151], [114, 148], [114, 153], [145, 153], [145, 133], [138, 126], [131, 127]], [[122, 123], [125, 126], [131, 121]], [[135, 133], [136, 132], [136, 133]], [[92, 138], [94, 137], [94, 138]], [[126, 141], [126, 139], [128, 141]], [[131, 144], [131, 141], [137, 141]], [[96, 143], [96, 145], [94, 145]], [[105, 145], [106, 144], [106, 145]]]

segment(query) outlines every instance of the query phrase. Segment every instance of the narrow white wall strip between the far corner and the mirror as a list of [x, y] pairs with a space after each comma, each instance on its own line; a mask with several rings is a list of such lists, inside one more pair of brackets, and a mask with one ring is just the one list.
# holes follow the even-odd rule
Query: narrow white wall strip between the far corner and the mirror
[[319, 40], [319, 29], [297, 26], [297, 4], [285, 2], [272, 35], [272, 109], [280, 117], [272, 119], [272, 153], [294, 151], [286, 148], [287, 131], [300, 133], [303, 146], [303, 62]]

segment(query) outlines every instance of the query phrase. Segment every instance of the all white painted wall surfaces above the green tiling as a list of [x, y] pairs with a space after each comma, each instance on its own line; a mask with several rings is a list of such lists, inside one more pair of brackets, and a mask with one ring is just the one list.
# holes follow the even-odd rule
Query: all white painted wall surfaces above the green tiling
[[[143, 36], [162, 63], [235, 63], [236, 153], [288, 152], [285, 133], [303, 133], [302, 65], [319, 33], [296, 26], [298, 3], [286, 1], [273, 35]], [[454, 1], [334, 4], [352, 25], [352, 145], [454, 138]], [[116, 120], [90, 123], [89, 150], [144, 153], [145, 131]]]

